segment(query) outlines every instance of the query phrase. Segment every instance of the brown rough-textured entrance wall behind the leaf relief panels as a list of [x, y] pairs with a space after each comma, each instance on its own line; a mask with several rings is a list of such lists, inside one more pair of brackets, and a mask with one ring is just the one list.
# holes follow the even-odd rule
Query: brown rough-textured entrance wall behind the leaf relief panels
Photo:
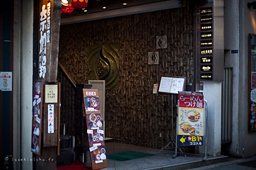
[[[167, 49], [156, 49], [158, 35], [167, 35]], [[87, 83], [87, 47], [119, 43], [119, 90], [106, 91], [105, 136], [161, 148], [171, 141], [171, 95], [152, 94], [153, 84], [160, 75], [183, 76], [186, 85], [194, 83], [193, 36], [189, 5], [64, 25], [59, 62], [76, 83]], [[148, 65], [149, 51], [159, 51], [159, 65]], [[174, 116], [177, 99], [174, 95]], [[174, 134], [175, 123], [176, 118]]]

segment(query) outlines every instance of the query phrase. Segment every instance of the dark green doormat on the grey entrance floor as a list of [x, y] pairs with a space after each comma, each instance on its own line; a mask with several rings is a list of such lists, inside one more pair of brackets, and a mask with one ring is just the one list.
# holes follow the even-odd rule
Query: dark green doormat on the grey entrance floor
[[147, 157], [152, 155], [154, 154], [128, 151], [128, 152], [121, 152], [121, 153], [116, 153], [113, 155], [106, 155], [106, 156], [107, 156], [107, 159], [112, 159], [115, 161], [127, 161], [131, 159], [137, 159], [137, 158]]

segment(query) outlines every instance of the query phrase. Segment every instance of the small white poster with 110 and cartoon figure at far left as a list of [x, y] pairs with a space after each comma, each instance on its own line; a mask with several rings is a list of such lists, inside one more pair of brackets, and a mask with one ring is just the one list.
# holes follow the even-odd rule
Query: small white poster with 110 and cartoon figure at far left
[[0, 72], [0, 90], [12, 91], [13, 72]]

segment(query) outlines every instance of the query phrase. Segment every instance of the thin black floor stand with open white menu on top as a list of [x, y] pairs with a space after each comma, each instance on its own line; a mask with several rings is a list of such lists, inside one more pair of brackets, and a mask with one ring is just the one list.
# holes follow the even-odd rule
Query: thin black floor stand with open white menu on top
[[[174, 109], [173, 109], [173, 94], [178, 94], [178, 91], [184, 91], [186, 82], [186, 77], [178, 77], [178, 76], [163, 76], [159, 77], [157, 92], [159, 94], [171, 94], [171, 127], [173, 128], [174, 124]], [[173, 140], [173, 130], [171, 131], [171, 142]], [[169, 144], [171, 144], [171, 142]], [[163, 147], [159, 152], [165, 149], [167, 146]], [[159, 153], [158, 152], [158, 153]]]

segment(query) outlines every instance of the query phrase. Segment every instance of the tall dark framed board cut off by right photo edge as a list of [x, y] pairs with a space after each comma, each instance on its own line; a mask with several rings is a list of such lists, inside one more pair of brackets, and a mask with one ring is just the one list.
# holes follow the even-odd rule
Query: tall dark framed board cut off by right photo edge
[[256, 35], [249, 34], [248, 130], [256, 131]]

